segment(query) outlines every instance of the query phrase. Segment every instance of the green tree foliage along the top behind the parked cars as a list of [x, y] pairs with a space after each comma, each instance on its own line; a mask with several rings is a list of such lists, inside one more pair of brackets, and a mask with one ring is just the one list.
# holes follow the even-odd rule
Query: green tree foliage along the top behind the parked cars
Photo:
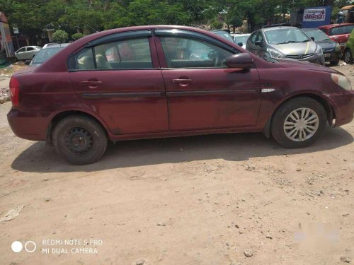
[[[333, 18], [350, 0], [0, 0], [21, 34], [40, 39], [45, 28], [85, 35], [130, 25], [174, 24], [249, 31], [285, 21], [295, 8], [333, 6]], [[74, 35], [77, 37], [77, 35]], [[73, 37], [72, 37], [73, 38]]]

